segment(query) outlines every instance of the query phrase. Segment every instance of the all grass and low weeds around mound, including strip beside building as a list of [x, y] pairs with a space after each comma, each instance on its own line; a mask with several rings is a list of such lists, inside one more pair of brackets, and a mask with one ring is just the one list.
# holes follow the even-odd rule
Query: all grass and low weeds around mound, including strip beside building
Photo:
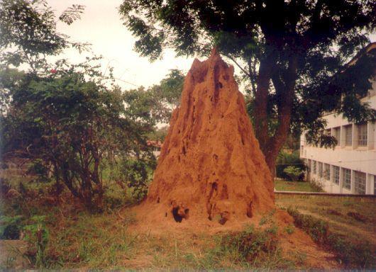
[[[272, 225], [266, 229], [248, 227], [236, 234], [190, 233], [184, 239], [175, 234], [137, 234], [130, 231], [136, 216], [124, 208], [133, 201], [129, 196], [121, 199], [120, 188], [106, 194], [104, 213], [92, 215], [69, 193], [56, 205], [46, 196], [46, 184], [43, 191], [23, 178], [17, 181], [18, 187], [20, 181], [25, 183], [23, 196], [0, 198], [0, 230], [8, 224], [11, 226], [8, 231], [21, 230], [26, 242], [21, 244], [22, 251], [12, 243], [1, 242], [0, 251], [6, 258], [1, 259], [0, 268], [275, 270], [310, 267], [300, 249], [282, 253]], [[276, 182], [280, 191], [314, 191], [309, 186], [303, 182]], [[331, 232], [345, 236], [353, 244], [367, 240], [375, 252], [375, 203], [329, 196], [277, 196], [276, 203], [280, 208], [293, 207], [305, 215], [326, 220]], [[294, 226], [282, 231], [294, 232]], [[340, 263], [338, 268], [343, 268]]]

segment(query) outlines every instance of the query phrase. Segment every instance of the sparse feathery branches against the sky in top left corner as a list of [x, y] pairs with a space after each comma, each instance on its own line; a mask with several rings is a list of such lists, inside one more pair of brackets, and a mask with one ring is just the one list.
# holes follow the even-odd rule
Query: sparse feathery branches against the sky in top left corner
[[[72, 5], [60, 15], [60, 20], [71, 24], [83, 10], [82, 5]], [[58, 55], [69, 46], [82, 50], [87, 44], [71, 42], [67, 35], [57, 32], [55, 13], [46, 1], [0, 1], [2, 63], [15, 67], [27, 64], [31, 72], [41, 72], [48, 68], [46, 57]]]

